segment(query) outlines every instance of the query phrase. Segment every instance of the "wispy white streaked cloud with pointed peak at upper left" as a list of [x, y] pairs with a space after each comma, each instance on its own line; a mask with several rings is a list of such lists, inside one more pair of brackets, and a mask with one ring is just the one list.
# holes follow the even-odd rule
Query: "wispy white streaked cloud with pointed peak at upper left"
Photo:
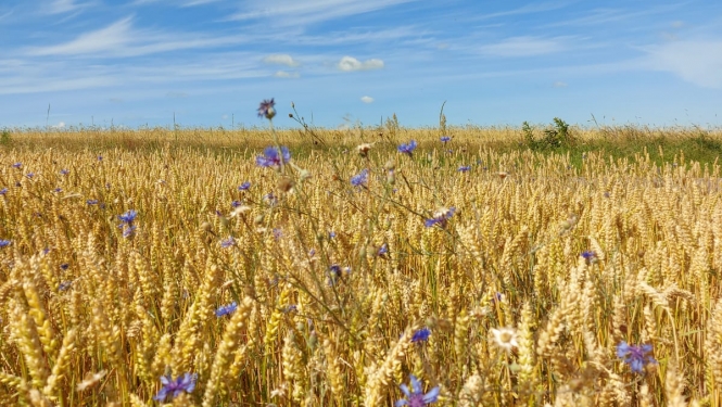
[[157, 52], [210, 48], [246, 41], [243, 36], [213, 37], [192, 34], [172, 34], [136, 29], [132, 17], [122, 18], [107, 27], [85, 33], [65, 43], [34, 47], [26, 50], [29, 55], [90, 55], [137, 56]]

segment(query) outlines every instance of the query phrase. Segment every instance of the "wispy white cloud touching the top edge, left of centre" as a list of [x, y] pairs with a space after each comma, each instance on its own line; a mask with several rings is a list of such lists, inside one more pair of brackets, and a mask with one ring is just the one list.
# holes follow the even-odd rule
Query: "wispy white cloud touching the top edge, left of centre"
[[251, 0], [228, 20], [268, 20], [276, 25], [307, 25], [369, 13], [417, 0]]

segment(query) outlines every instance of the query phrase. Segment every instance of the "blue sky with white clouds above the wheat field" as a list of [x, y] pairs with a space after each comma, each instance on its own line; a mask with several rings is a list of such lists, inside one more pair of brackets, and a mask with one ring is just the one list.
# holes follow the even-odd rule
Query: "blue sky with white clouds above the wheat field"
[[722, 125], [718, 0], [2, 0], [0, 44], [0, 127]]

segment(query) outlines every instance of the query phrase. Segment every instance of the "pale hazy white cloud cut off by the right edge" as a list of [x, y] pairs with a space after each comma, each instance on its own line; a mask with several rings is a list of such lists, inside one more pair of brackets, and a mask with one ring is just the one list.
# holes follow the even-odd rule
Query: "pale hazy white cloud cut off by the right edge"
[[722, 88], [722, 39], [672, 41], [647, 47], [649, 69], [671, 72], [704, 88]]

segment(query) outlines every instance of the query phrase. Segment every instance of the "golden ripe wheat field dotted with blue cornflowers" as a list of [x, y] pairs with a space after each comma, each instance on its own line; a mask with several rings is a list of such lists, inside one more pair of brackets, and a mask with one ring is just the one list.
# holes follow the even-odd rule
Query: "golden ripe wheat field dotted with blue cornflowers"
[[722, 405], [715, 162], [362, 130], [14, 133], [0, 404]]

